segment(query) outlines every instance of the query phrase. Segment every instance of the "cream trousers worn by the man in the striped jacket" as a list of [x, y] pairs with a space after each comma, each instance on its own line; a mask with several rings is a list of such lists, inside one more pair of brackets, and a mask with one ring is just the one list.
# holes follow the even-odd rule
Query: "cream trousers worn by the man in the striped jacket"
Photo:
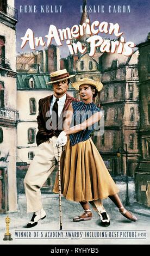
[[23, 181], [27, 199], [27, 212], [35, 212], [42, 209], [40, 188], [53, 172], [55, 160], [58, 160], [56, 142], [57, 137], [53, 136], [49, 141], [41, 143], [37, 147], [38, 150], [33, 161], [30, 163]]

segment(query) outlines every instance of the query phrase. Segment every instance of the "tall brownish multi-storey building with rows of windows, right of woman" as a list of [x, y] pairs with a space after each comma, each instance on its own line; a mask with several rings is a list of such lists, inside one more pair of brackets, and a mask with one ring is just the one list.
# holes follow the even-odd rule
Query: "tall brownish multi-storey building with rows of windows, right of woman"
[[[132, 56], [103, 53], [99, 57], [103, 89], [100, 104], [104, 110], [104, 133], [95, 142], [112, 175], [134, 176], [140, 156], [139, 129], [139, 51]], [[126, 144], [128, 166], [126, 166]], [[120, 148], [121, 157], [116, 155]], [[128, 168], [128, 169], [127, 169]]]

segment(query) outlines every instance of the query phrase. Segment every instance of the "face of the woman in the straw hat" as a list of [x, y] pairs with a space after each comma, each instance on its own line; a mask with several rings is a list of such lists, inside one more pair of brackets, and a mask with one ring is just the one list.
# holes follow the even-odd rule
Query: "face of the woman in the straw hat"
[[83, 84], [79, 87], [79, 94], [82, 100], [85, 102], [92, 102], [92, 97], [95, 92], [91, 89], [91, 87], [87, 84]]

